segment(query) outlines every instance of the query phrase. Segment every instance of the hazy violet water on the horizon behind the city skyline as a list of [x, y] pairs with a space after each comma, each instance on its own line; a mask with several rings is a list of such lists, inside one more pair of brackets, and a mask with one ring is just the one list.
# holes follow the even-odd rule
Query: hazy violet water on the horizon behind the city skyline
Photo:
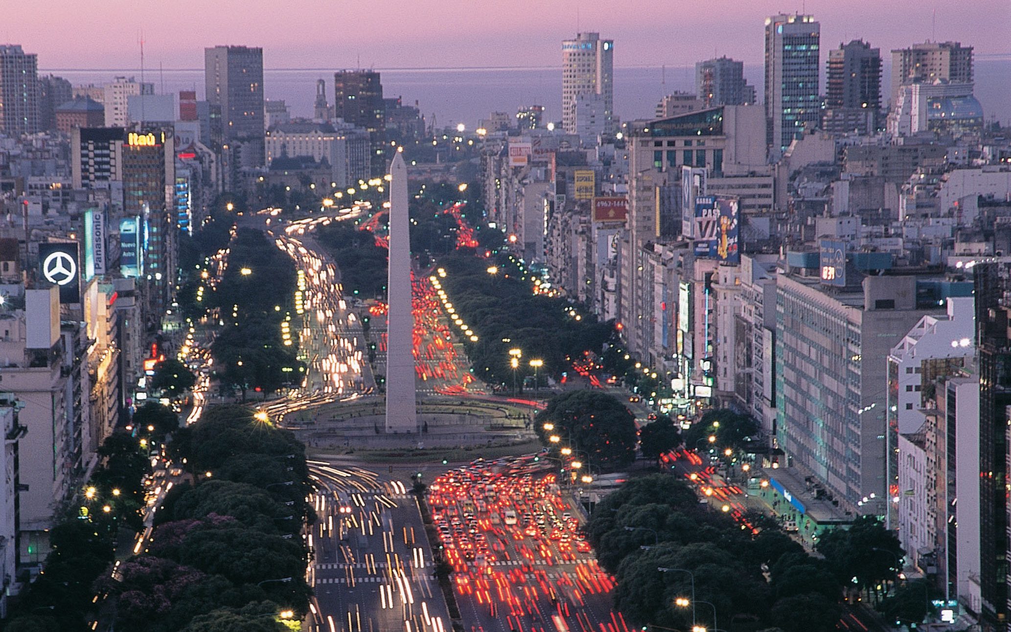
[[[53, 70], [78, 84], [101, 84], [116, 75], [141, 78], [140, 70]], [[492, 111], [515, 114], [521, 105], [539, 104], [547, 108], [549, 120], [561, 118], [560, 68], [466, 68], [382, 70], [383, 94], [401, 96], [404, 103], [418, 101], [429, 120], [435, 113], [439, 125], [464, 122], [475, 125]], [[762, 95], [762, 67], [745, 64], [744, 74]], [[883, 68], [882, 91], [890, 94], [888, 62]], [[283, 99], [293, 116], [311, 116], [315, 81], [327, 80], [328, 97], [333, 101], [334, 71], [326, 69], [267, 70], [264, 92], [268, 99]], [[145, 80], [155, 83], [157, 92], [195, 89], [202, 98], [203, 70], [148, 70]], [[824, 86], [824, 78], [822, 78]], [[629, 67], [615, 69], [615, 111], [624, 120], [646, 118], [660, 98], [675, 90], [695, 91], [695, 67]], [[988, 120], [996, 116], [1011, 125], [1011, 56], [981, 57], [976, 60], [976, 96]]]

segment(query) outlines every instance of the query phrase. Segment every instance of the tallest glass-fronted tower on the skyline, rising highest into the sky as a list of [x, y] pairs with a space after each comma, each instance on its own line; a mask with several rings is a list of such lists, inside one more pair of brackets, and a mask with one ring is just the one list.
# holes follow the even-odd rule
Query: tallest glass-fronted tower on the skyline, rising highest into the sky
[[805, 126], [821, 120], [820, 31], [811, 15], [765, 18], [765, 137], [773, 154], [785, 152]]

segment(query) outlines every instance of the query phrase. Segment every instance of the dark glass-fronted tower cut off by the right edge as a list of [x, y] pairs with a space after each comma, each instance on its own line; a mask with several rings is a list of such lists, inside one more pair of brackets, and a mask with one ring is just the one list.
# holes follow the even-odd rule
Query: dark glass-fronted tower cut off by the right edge
[[1007, 424], [1011, 407], [1011, 261], [977, 264], [976, 340], [980, 363], [980, 593], [983, 629], [1006, 629]]

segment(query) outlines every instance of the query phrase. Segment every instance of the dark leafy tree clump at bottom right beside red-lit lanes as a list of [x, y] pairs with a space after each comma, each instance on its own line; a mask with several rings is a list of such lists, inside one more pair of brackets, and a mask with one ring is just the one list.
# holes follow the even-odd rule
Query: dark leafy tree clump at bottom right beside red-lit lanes
[[659, 473], [599, 503], [587, 531], [601, 565], [618, 578], [615, 606], [640, 626], [830, 632], [847, 601], [862, 599], [906, 624], [929, 608], [924, 584], [895, 583], [903, 551], [870, 517], [824, 533], [815, 556], [770, 518], [735, 521]]

